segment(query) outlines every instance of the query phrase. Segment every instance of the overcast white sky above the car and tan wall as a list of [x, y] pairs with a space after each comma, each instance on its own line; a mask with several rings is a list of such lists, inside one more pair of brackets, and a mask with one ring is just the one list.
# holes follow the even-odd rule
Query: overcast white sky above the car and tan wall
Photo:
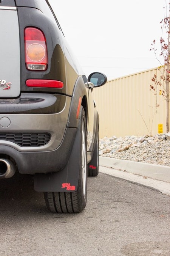
[[165, 0], [49, 3], [87, 76], [99, 71], [110, 80], [160, 66], [150, 48], [162, 35]]

